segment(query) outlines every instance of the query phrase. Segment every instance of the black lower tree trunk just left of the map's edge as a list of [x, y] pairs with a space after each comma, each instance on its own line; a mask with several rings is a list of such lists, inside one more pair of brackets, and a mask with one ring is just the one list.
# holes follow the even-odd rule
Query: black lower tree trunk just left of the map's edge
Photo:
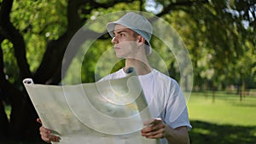
[[11, 115], [9, 135], [13, 140], [36, 140], [38, 126], [36, 126], [36, 112], [28, 97], [17, 89], [9, 90], [11, 95]]

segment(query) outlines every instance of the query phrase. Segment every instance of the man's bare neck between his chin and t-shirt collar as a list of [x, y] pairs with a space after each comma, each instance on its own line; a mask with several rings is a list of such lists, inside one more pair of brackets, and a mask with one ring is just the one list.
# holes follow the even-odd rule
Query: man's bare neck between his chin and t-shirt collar
[[137, 71], [137, 75], [145, 75], [151, 72], [152, 68], [149, 66], [148, 59], [137, 60], [137, 59], [126, 59], [124, 70], [133, 67]]

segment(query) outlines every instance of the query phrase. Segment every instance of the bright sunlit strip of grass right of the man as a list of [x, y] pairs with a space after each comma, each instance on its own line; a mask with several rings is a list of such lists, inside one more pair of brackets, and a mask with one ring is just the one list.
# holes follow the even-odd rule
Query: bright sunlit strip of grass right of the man
[[203, 93], [192, 93], [188, 102], [189, 119], [214, 124], [256, 126], [256, 96], [247, 96], [240, 101], [238, 95], [216, 93], [206, 97]]

